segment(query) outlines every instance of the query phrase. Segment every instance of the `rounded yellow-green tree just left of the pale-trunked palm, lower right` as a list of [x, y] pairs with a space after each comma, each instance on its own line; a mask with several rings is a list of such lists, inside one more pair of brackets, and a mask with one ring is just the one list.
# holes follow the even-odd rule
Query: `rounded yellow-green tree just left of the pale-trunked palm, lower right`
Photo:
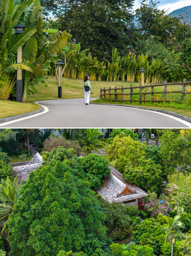
[[161, 231], [162, 227], [154, 218], [143, 220], [133, 233], [133, 241], [142, 246], [149, 245], [155, 254], [160, 254], [165, 240], [165, 233]]

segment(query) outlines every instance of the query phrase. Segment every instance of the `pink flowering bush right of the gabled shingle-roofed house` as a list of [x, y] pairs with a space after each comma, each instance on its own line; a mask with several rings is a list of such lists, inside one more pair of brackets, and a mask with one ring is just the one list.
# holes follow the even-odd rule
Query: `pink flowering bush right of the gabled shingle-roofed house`
[[159, 214], [169, 215], [168, 211], [170, 210], [170, 203], [166, 196], [158, 199], [156, 193], [149, 193], [148, 196], [144, 198], [142, 207], [144, 211], [147, 211], [150, 214], [150, 216], [157, 218]]

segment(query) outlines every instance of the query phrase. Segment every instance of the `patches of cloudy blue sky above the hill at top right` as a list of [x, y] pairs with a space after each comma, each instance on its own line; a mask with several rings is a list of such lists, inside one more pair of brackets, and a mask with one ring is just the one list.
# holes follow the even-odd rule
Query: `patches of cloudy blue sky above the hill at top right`
[[[161, 10], [169, 10], [168, 13], [171, 13], [174, 10], [180, 9], [184, 6], [191, 5], [191, 0], [161, 0], [161, 3], [158, 5]], [[135, 0], [135, 5], [133, 10], [136, 10], [139, 7], [139, 0]]]

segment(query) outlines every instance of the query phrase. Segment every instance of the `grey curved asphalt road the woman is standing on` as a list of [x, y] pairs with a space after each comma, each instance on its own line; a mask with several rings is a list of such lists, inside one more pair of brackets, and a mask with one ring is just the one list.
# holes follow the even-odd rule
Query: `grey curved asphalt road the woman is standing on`
[[[93, 100], [95, 98], [91, 98]], [[84, 104], [84, 98], [46, 100], [44, 111], [0, 124], [1, 128], [188, 128], [191, 123], [160, 112]]]

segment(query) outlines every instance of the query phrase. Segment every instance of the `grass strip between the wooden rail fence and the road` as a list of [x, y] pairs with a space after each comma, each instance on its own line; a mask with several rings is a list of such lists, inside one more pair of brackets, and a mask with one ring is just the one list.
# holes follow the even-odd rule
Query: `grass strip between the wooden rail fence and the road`
[[[106, 104], [121, 104], [120, 101], [108, 101], [108, 100], [102, 100], [102, 99], [97, 99], [97, 100], [92, 100], [90, 101], [91, 103], [106, 103]], [[127, 102], [124, 101], [121, 105], [129, 105], [129, 106], [139, 106], [139, 107], [146, 107], [146, 108], [151, 108], [151, 109], [162, 109], [162, 110], [167, 110], [171, 111], [180, 115], [184, 115], [187, 117], [191, 118], [191, 106], [187, 106], [185, 103], [168, 103], [168, 102], [145, 102], [139, 104], [138, 102]]]

